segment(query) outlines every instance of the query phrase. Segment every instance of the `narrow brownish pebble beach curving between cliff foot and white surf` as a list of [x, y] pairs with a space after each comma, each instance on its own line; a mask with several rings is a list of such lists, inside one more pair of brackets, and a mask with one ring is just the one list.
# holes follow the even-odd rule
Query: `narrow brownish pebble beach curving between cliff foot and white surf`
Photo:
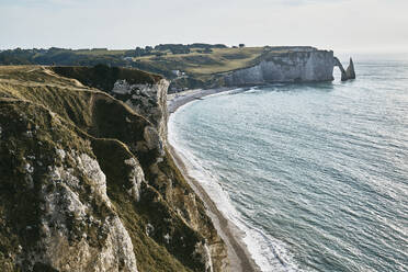
[[[235, 88], [234, 88], [235, 89]], [[168, 99], [168, 112], [169, 115], [174, 113], [180, 106], [190, 103], [195, 100], [200, 100], [204, 97], [216, 94], [225, 91], [233, 90], [233, 88], [220, 88], [212, 90], [189, 90], [181, 93], [169, 94]], [[168, 143], [169, 152], [173, 158], [177, 167], [183, 174], [184, 179], [192, 186], [194, 192], [204, 202], [206, 213], [211, 217], [215, 229], [224, 240], [227, 247], [227, 254], [229, 261], [229, 269], [231, 272], [260, 272], [260, 268], [254, 262], [251, 253], [248, 250], [247, 245], [243, 241], [243, 231], [240, 230], [233, 222], [227, 219], [224, 214], [218, 209], [214, 201], [211, 199], [206, 190], [201, 183], [189, 174], [188, 168], [185, 167], [182, 156], [180, 156], [177, 149]]]

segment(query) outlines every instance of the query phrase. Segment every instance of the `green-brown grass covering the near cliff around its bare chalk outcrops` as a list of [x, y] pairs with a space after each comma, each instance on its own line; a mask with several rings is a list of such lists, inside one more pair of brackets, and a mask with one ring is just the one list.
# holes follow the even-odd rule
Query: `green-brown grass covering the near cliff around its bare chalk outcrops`
[[[224, 245], [205, 215], [203, 203], [171, 157], [166, 150], [160, 151], [160, 146], [143, 148], [145, 128], [152, 124], [123, 102], [90, 88], [109, 90], [116, 79], [151, 84], [160, 77], [106, 66], [0, 67], [1, 271], [24, 270], [24, 263], [15, 265], [15, 256], [42, 250], [36, 248], [44, 235], [42, 190], [59, 186], [49, 178], [48, 167], [60, 166], [77, 173], [75, 161], [63, 161], [56, 149], [88, 154], [98, 160], [114, 208], [94, 201], [92, 216], [103, 222], [113, 212], [118, 215], [131, 236], [139, 271], [203, 271], [202, 260], [192, 252], [204, 239], [223, 251]], [[152, 171], [158, 156], [163, 156], [162, 160]], [[132, 168], [124, 163], [127, 159], [140, 163], [147, 181], [141, 184], [138, 202], [127, 193], [132, 185]], [[76, 192], [81, 202], [89, 202], [92, 182], [78, 177], [83, 186]], [[147, 233], [149, 224], [155, 229]], [[103, 242], [104, 234], [97, 226], [71, 219], [67, 227], [72, 245], [83, 231], [92, 247]], [[166, 239], [168, 234], [170, 240]], [[46, 263], [35, 263], [33, 270], [54, 271]]]

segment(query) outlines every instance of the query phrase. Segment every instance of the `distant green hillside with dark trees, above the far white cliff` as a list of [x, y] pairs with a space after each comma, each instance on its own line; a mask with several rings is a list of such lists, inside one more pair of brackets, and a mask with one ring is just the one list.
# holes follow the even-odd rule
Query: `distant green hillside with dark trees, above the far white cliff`
[[209, 44], [165, 44], [128, 50], [14, 49], [0, 53], [3, 65], [134, 67], [171, 80], [170, 91], [225, 86], [224, 73], [250, 68], [264, 59], [316, 50], [309, 46], [227, 47]]

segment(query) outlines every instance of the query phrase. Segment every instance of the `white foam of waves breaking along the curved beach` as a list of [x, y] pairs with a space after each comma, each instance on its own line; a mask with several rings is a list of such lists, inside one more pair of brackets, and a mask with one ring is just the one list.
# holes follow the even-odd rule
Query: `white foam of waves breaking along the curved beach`
[[299, 271], [292, 260], [292, 256], [286, 249], [287, 247], [282, 241], [274, 239], [264, 234], [261, 229], [245, 222], [242, 216], [234, 206], [228, 193], [219, 185], [217, 177], [206, 170], [205, 161], [199, 160], [193, 155], [192, 150], [189, 150], [189, 148], [183, 144], [183, 140], [178, 133], [174, 120], [178, 114], [182, 114], [188, 106], [196, 102], [197, 101], [193, 101], [183, 105], [169, 118], [169, 143], [175, 148], [179, 156], [182, 158], [188, 173], [201, 183], [224, 216], [233, 222], [245, 234], [242, 240], [247, 245], [253, 260], [262, 271]]

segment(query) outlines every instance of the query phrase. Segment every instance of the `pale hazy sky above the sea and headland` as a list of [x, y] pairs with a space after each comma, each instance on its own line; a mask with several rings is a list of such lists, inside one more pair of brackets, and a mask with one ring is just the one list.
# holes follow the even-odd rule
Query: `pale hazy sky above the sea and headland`
[[0, 48], [160, 43], [408, 52], [408, 0], [0, 0]]

